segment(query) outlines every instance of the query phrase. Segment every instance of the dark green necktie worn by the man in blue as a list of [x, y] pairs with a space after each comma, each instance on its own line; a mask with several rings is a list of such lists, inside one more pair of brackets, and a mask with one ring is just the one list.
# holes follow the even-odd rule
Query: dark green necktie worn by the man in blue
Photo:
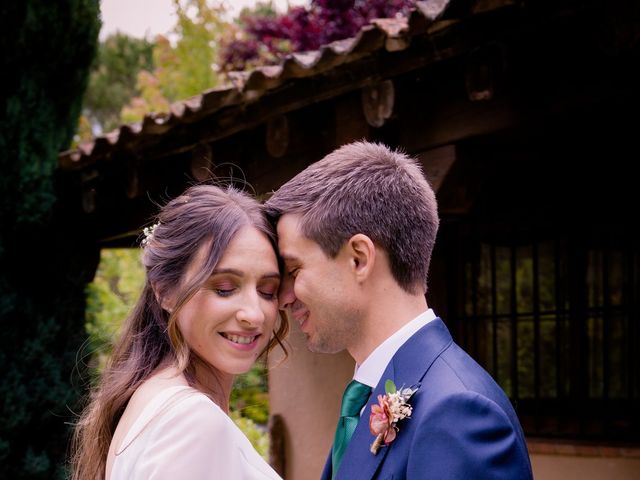
[[371, 395], [371, 387], [351, 380], [342, 396], [342, 407], [340, 407], [340, 420], [336, 428], [336, 438], [333, 441], [333, 451], [331, 453], [331, 463], [333, 478], [335, 478], [342, 455], [347, 449], [349, 440], [356, 430], [358, 420], [360, 420], [360, 410], [365, 406]]

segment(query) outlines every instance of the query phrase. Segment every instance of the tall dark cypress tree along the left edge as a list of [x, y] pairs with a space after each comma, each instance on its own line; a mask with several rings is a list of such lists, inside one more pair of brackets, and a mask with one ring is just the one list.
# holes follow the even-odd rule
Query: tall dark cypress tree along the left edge
[[0, 478], [63, 478], [71, 386], [96, 248], [56, 213], [98, 0], [0, 5]]

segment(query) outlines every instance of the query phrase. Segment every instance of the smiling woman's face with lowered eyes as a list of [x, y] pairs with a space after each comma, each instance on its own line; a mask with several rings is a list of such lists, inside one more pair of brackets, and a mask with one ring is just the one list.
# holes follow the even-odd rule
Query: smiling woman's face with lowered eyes
[[180, 309], [185, 341], [221, 373], [247, 372], [273, 333], [279, 284], [271, 243], [254, 227], [243, 227], [211, 277]]

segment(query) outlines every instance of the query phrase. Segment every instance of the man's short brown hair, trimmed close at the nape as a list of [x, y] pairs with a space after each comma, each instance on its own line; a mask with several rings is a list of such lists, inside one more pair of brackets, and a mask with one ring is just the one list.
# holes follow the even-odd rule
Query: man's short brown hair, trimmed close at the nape
[[426, 290], [438, 231], [433, 189], [417, 161], [385, 145], [355, 142], [313, 163], [266, 202], [276, 223], [301, 214], [302, 233], [334, 258], [362, 233], [387, 252], [398, 284]]

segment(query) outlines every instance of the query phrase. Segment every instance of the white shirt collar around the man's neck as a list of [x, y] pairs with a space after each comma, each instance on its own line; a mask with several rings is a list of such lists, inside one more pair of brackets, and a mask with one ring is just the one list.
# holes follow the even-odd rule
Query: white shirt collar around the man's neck
[[433, 310], [428, 309], [387, 338], [371, 352], [361, 365], [356, 365], [356, 372], [353, 376], [354, 380], [364, 383], [371, 388], [375, 388], [386, 370], [387, 365], [389, 365], [389, 362], [400, 347], [404, 345], [414, 333], [435, 318], [436, 314]]

